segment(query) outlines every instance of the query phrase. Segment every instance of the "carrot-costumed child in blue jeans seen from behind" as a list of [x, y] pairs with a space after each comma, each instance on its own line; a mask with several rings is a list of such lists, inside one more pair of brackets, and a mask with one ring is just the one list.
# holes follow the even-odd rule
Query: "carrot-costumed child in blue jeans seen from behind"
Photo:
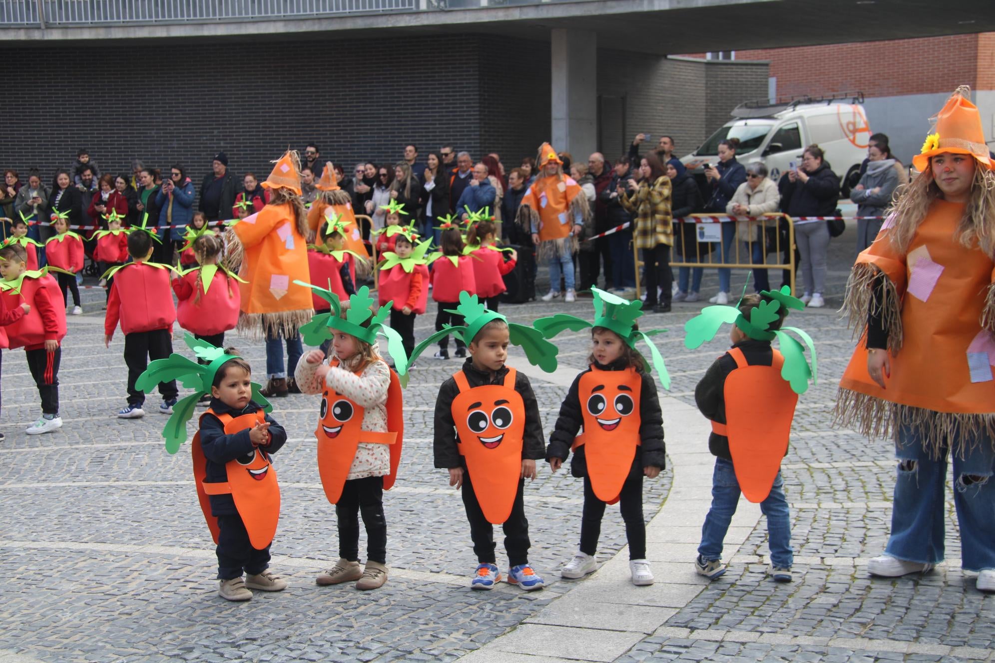
[[[694, 350], [714, 338], [722, 324], [732, 324], [732, 348], [711, 364], [695, 389], [697, 409], [711, 419], [708, 450], [716, 456], [711, 508], [695, 562], [697, 574], [709, 580], [725, 573], [722, 541], [740, 491], [750, 502], [759, 502], [767, 517], [767, 575], [778, 582], [791, 580], [791, 524], [780, 465], [788, 452], [798, 395], [816, 378], [812, 339], [797, 327], [781, 327], [792, 308], [802, 310], [805, 304], [785, 285], [745, 295], [736, 306], [706, 306], [685, 325], [685, 346]], [[802, 345], [786, 330], [805, 341], [811, 368]], [[780, 352], [770, 345], [775, 338]]]

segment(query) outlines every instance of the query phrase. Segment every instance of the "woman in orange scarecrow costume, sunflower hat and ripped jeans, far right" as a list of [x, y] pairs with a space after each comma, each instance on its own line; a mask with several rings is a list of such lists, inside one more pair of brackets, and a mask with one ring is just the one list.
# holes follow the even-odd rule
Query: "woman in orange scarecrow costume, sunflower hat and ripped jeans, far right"
[[[995, 162], [969, 95], [958, 87], [934, 116], [912, 160], [920, 174], [857, 257], [844, 311], [860, 342], [840, 381], [836, 419], [896, 442], [892, 534], [868, 570], [900, 576], [943, 559], [949, 453], [962, 568], [983, 572], [978, 587], [995, 590], [995, 262], [982, 246], [995, 236]], [[952, 157], [932, 158], [945, 153], [974, 160], [970, 202], [943, 199], [933, 169], [954, 168]], [[872, 379], [869, 355], [890, 362], [875, 366], [887, 389]]]

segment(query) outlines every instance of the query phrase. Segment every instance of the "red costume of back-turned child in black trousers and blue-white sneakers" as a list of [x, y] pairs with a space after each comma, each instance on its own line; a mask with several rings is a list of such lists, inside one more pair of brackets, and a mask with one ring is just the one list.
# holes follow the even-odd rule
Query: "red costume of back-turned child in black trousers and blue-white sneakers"
[[113, 336], [117, 321], [125, 334], [169, 329], [176, 321], [176, 307], [169, 287], [169, 269], [145, 262], [129, 262], [114, 272], [107, 298], [103, 332]]

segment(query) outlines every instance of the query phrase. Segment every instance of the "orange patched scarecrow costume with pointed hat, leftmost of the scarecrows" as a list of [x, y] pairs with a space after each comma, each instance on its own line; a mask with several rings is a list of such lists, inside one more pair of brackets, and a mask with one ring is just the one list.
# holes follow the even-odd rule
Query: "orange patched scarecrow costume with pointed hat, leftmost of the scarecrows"
[[293, 337], [313, 313], [310, 292], [295, 285], [310, 280], [298, 163], [296, 152], [284, 154], [263, 182], [273, 202], [226, 232], [229, 266], [241, 262], [239, 276], [248, 281], [240, 284], [240, 331]]

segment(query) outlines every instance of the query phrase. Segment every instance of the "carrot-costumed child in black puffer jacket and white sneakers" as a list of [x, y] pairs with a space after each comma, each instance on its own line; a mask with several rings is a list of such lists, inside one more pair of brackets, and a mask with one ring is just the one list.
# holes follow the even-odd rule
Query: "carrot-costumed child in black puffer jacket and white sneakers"
[[[555, 472], [573, 449], [571, 473], [584, 478], [580, 545], [560, 575], [577, 579], [597, 570], [595, 553], [605, 504], [621, 502], [632, 582], [653, 584], [653, 572], [646, 559], [643, 477], [655, 479], [666, 464], [663, 417], [651, 370], [656, 369], [666, 389], [670, 389], [671, 381], [664, 359], [650, 338], [665, 330], [639, 329], [637, 320], [643, 315], [643, 302], [629, 301], [596, 287], [591, 292], [593, 323], [566, 314], [539, 318], [534, 323], [546, 338], [567, 329], [591, 328], [588, 368], [573, 381], [560, 406], [546, 453]], [[652, 363], [636, 350], [637, 341], [647, 345]], [[578, 435], [581, 427], [584, 431]]]

